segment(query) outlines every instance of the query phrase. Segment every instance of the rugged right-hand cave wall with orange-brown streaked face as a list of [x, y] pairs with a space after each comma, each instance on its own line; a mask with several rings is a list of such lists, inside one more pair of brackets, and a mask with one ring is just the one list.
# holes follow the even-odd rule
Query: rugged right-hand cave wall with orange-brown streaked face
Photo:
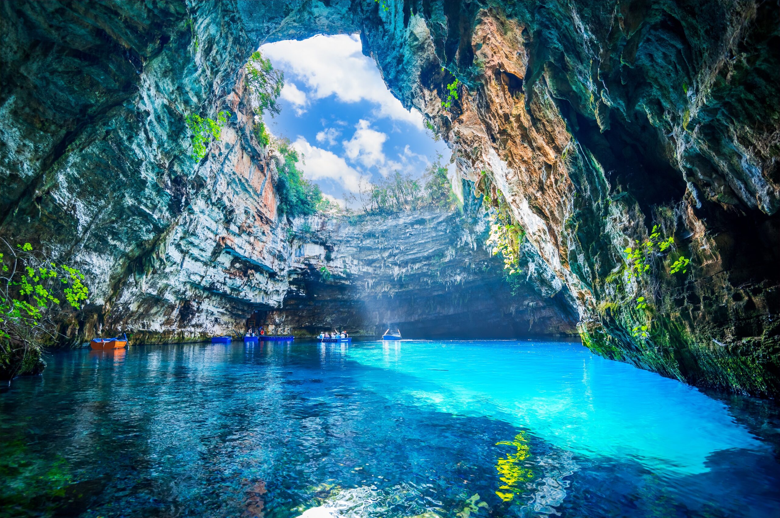
[[[698, 385], [778, 392], [778, 5], [378, 14], [363, 41], [385, 80], [433, 115], [478, 190], [507, 200], [573, 294], [587, 346]], [[675, 249], [633, 278], [623, 250], [654, 225]], [[690, 268], [672, 273], [681, 255]]]

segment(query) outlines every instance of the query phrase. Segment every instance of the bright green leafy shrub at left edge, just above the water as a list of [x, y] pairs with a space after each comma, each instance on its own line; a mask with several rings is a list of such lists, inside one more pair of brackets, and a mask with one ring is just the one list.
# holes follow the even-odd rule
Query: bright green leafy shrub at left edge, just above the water
[[0, 253], [0, 378], [41, 371], [41, 348], [55, 337], [53, 319], [87, 300], [84, 276], [36, 251], [30, 243]]

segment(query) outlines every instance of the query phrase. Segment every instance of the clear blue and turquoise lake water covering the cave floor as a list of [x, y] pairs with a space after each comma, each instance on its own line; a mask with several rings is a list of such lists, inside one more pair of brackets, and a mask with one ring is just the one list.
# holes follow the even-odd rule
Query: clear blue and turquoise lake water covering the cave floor
[[739, 403], [569, 342], [74, 350], [0, 394], [0, 513], [780, 516]]

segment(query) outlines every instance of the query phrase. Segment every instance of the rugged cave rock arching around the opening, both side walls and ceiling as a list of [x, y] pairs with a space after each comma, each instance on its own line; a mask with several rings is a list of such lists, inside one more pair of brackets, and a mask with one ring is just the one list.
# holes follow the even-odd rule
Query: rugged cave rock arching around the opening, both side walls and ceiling
[[[460, 174], [508, 201], [587, 346], [698, 385], [780, 392], [776, 3], [0, 9], [2, 234], [90, 272], [89, 311], [63, 328], [74, 338], [103, 325], [191, 339], [239, 325], [248, 304], [300, 303], [310, 281], [262, 187], [272, 167], [249, 137], [241, 69], [261, 42], [355, 31]], [[222, 109], [236, 115], [196, 164], [184, 117]], [[672, 274], [667, 255], [636, 282], [622, 250], [653, 225], [690, 268]]]

